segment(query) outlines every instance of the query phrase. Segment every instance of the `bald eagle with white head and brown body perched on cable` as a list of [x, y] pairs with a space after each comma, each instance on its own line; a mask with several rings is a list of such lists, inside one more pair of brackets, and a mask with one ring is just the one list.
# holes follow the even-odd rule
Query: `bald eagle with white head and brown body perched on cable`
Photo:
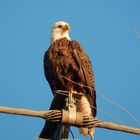
[[[82, 46], [77, 41], [70, 39], [69, 31], [70, 25], [68, 23], [56, 22], [52, 27], [51, 45], [44, 55], [45, 77], [55, 95], [50, 109], [61, 110], [66, 106], [66, 97], [55, 94], [55, 91], [74, 91], [83, 93], [80, 102], [76, 102], [77, 111], [95, 117], [96, 91], [91, 62]], [[71, 81], [85, 86], [79, 86]], [[61, 124], [46, 121], [39, 137], [61, 139], [62, 131]], [[80, 132], [87, 136], [94, 130], [80, 128]]]

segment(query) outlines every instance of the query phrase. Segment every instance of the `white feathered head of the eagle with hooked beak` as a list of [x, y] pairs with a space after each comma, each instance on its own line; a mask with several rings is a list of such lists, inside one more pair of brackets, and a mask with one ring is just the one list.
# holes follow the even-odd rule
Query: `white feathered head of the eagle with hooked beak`
[[51, 32], [51, 44], [54, 43], [57, 39], [66, 37], [70, 40], [69, 37], [70, 25], [67, 22], [59, 21], [56, 22], [52, 27]]

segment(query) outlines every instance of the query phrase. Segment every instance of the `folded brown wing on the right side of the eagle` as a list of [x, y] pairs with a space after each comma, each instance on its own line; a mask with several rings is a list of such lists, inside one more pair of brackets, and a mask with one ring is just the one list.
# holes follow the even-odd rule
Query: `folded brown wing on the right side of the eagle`
[[96, 90], [91, 62], [84, 49], [78, 42], [71, 41], [71, 46], [73, 48], [73, 58], [79, 67], [79, 76], [81, 77], [80, 84], [84, 85], [84, 92], [86, 92], [88, 101], [93, 107], [93, 116], [96, 116]]

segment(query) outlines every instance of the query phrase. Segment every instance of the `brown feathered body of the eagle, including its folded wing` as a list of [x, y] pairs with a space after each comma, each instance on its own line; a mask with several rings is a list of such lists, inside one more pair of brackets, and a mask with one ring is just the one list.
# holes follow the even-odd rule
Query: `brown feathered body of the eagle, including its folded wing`
[[[44, 72], [52, 92], [56, 90], [85, 93], [90, 104], [96, 108], [96, 91], [91, 62], [81, 45], [62, 38], [55, 41], [44, 56]], [[64, 77], [87, 87], [82, 87]], [[93, 116], [96, 109], [93, 108]]]

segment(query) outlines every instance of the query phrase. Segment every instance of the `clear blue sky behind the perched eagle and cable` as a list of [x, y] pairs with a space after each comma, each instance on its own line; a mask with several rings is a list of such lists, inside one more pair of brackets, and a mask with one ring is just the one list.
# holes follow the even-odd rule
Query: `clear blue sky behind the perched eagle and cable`
[[[46, 110], [52, 94], [43, 73], [43, 55], [56, 21], [71, 25], [70, 36], [88, 53], [97, 89], [98, 108], [123, 124], [140, 127], [126, 112], [100, 96], [127, 108], [140, 118], [139, 0], [0, 0], [0, 106]], [[117, 122], [98, 111], [98, 119]], [[0, 114], [0, 139], [33, 140], [44, 120]], [[72, 129], [78, 139], [77, 129]], [[122, 132], [96, 129], [95, 140], [138, 140]]]

